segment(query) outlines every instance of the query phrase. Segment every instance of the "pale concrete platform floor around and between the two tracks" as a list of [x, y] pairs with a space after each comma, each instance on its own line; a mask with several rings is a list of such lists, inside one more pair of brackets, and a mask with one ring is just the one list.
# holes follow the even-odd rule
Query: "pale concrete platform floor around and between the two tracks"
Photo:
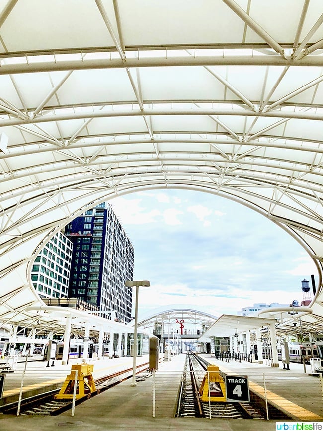
[[[305, 411], [311, 415], [308, 421], [323, 421], [322, 392], [316, 393], [320, 386], [320, 379], [304, 373], [303, 366], [292, 365], [291, 371], [273, 369], [270, 366], [250, 364], [246, 362], [217, 361], [211, 355], [201, 355], [208, 362], [217, 364], [223, 372], [248, 375], [249, 382], [254, 388], [261, 386], [259, 375], [265, 374], [268, 388], [268, 398], [277, 395], [279, 402], [286, 400], [298, 406], [299, 412]], [[162, 362], [154, 375], [147, 372], [139, 374], [137, 386], [131, 386], [131, 380], [126, 380], [99, 395], [77, 405], [74, 416], [71, 410], [59, 416], [14, 416], [0, 415], [2, 428], [12, 431], [46, 431], [57, 429], [75, 430], [275, 430], [275, 420], [255, 419], [217, 419], [217, 418], [177, 418], [175, 417], [176, 400], [185, 362], [185, 354], [173, 356], [171, 361]], [[147, 361], [148, 357], [138, 358]], [[101, 362], [99, 364], [99, 362]], [[105, 367], [124, 369], [132, 363], [132, 358], [117, 358], [96, 361], [94, 377], [107, 374]], [[138, 361], [137, 361], [138, 363]], [[70, 365], [59, 370], [70, 370]], [[62, 366], [63, 368], [63, 366]], [[96, 370], [95, 370], [96, 369]], [[99, 370], [100, 369], [100, 370]], [[48, 369], [46, 370], [46, 372]], [[45, 372], [44, 367], [38, 367], [38, 374]], [[50, 371], [48, 371], [50, 372]], [[291, 373], [291, 374], [288, 374]], [[11, 376], [10, 376], [11, 377]], [[40, 376], [41, 377], [41, 376]], [[253, 381], [255, 380], [255, 381]], [[18, 382], [18, 381], [17, 381]], [[16, 382], [16, 383], [17, 383]], [[35, 384], [41, 384], [37, 382]], [[19, 392], [20, 384], [16, 384]], [[270, 388], [269, 388], [270, 387]], [[298, 387], [298, 389], [296, 389]], [[250, 384], [251, 389], [251, 384]], [[154, 395], [155, 394], [155, 398]], [[308, 400], [310, 398], [311, 400]], [[155, 399], [155, 401], [154, 401]], [[314, 403], [314, 404], [309, 404]], [[290, 407], [290, 406], [287, 406]], [[304, 419], [301, 419], [304, 421]], [[293, 421], [292, 419], [290, 421]], [[297, 419], [295, 418], [295, 421]]]

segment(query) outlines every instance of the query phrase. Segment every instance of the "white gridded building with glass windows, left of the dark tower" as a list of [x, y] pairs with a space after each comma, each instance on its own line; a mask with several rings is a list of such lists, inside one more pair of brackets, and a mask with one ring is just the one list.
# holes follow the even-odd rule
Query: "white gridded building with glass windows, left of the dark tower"
[[38, 254], [31, 268], [31, 281], [41, 298], [67, 297], [72, 242], [57, 232]]

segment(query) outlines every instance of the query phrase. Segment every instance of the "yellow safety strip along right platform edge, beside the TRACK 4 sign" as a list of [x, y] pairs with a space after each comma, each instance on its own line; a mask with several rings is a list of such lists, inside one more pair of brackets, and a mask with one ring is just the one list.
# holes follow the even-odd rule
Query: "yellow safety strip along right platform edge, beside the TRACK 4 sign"
[[[225, 373], [230, 373], [233, 375], [239, 375], [235, 372], [232, 372], [230, 369], [223, 367], [222, 365], [221, 365], [221, 371]], [[258, 385], [257, 383], [249, 380], [249, 388], [251, 388], [253, 392], [256, 392], [257, 394], [265, 397], [265, 389], [262, 386]], [[318, 421], [323, 419], [322, 416], [319, 416], [316, 413], [313, 413], [310, 410], [307, 410], [304, 407], [301, 407], [298, 404], [295, 404], [292, 401], [289, 401], [286, 398], [281, 397], [280, 395], [269, 391], [268, 389], [266, 389], [266, 394], [267, 394], [267, 400], [270, 400], [278, 407], [284, 409], [295, 419], [298, 419], [300, 421], [308, 421], [308, 420]]]

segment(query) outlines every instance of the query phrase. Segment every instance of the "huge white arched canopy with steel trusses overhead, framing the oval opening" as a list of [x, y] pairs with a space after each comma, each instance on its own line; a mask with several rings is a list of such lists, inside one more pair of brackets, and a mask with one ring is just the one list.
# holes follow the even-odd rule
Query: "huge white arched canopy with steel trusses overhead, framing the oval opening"
[[316, 264], [323, 316], [322, 12], [0, 0], [0, 321], [34, 319], [30, 269], [56, 231], [163, 188], [232, 199], [288, 232]]

